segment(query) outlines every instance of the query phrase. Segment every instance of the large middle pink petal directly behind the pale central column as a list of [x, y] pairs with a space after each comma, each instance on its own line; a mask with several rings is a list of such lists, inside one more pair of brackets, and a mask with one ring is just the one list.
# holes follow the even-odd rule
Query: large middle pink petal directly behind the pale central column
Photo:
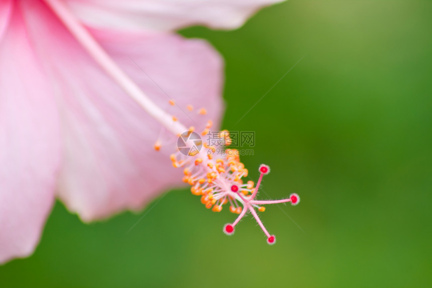
[[[51, 12], [32, 5], [26, 15], [28, 27], [60, 95], [65, 147], [60, 199], [90, 221], [141, 209], [179, 185], [181, 171], [169, 160], [176, 137], [154, 151], [161, 125], [89, 58]], [[175, 35], [92, 33], [154, 102], [171, 109], [185, 125], [193, 123], [178, 107], [169, 107], [170, 98], [146, 73], [184, 111], [189, 103], [207, 108], [205, 117], [189, 112], [194, 126], [202, 128], [208, 119], [219, 123], [222, 60], [206, 42]]]

